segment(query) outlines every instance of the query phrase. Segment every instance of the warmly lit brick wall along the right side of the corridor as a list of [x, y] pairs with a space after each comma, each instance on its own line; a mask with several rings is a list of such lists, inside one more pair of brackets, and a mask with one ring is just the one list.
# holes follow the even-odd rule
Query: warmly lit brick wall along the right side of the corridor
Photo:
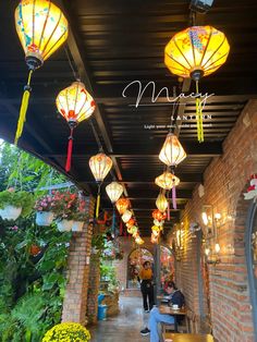
[[[218, 229], [221, 262], [208, 265], [213, 335], [220, 342], [254, 341], [248, 294], [244, 232], [248, 201], [243, 199], [249, 175], [257, 172], [257, 101], [247, 103], [223, 143], [223, 155], [213, 158], [204, 174], [205, 195], [197, 187], [187, 204], [184, 221], [185, 251], [178, 262], [176, 279], [187, 305], [199, 314], [196, 239], [188, 233], [189, 222], [201, 222], [201, 207], [212, 205], [215, 213], [234, 215]], [[212, 240], [212, 244], [215, 241]], [[206, 306], [205, 306], [206, 309]]]

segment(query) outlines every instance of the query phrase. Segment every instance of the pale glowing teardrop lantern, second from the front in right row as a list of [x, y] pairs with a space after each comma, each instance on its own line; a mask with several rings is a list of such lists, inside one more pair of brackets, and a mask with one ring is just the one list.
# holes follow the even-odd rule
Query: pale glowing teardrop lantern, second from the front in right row
[[169, 133], [159, 154], [159, 159], [168, 167], [176, 167], [186, 158], [186, 152], [178, 137]]

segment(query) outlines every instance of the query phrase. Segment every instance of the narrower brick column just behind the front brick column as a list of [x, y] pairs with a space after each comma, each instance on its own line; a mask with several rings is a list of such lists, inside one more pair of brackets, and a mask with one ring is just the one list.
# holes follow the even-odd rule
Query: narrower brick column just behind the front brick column
[[98, 292], [100, 285], [100, 259], [98, 254], [91, 254], [87, 296], [87, 318], [89, 323], [97, 322]]

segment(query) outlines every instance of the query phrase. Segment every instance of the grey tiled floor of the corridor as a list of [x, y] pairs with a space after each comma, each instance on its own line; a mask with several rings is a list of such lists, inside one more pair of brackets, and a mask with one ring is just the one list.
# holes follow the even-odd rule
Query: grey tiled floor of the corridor
[[91, 342], [148, 342], [139, 331], [146, 327], [149, 314], [143, 314], [140, 297], [120, 296], [120, 314], [89, 328]]

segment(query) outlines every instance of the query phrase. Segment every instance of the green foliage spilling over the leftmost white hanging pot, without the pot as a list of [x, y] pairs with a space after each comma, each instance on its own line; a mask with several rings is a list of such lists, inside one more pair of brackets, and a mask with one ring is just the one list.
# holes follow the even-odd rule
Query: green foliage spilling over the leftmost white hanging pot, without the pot
[[9, 188], [0, 193], [0, 208], [7, 206], [22, 207], [22, 217], [28, 216], [34, 206], [34, 196], [27, 192], [15, 192], [14, 188]]

